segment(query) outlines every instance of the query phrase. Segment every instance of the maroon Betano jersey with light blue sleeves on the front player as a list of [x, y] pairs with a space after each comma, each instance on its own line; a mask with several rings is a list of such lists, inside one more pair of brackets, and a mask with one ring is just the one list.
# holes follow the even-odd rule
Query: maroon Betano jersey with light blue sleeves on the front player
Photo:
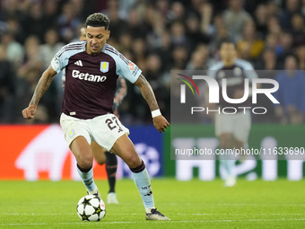
[[65, 68], [62, 112], [77, 119], [112, 113], [118, 75], [135, 83], [142, 72], [109, 44], [96, 56], [86, 53], [86, 44], [84, 40], [64, 46], [51, 62], [57, 73]]

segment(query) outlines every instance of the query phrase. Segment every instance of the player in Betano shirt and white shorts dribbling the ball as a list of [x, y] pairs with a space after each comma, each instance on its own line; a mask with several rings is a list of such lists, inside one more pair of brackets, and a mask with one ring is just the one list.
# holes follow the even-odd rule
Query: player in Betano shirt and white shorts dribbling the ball
[[109, 39], [109, 18], [93, 13], [86, 22], [87, 40], [61, 48], [51, 65], [41, 75], [29, 106], [22, 110], [25, 119], [34, 118], [39, 100], [48, 90], [53, 77], [65, 68], [65, 92], [60, 125], [77, 162], [78, 172], [89, 194], [100, 196], [93, 180], [94, 140], [129, 166], [135, 186], [144, 202], [147, 220], [170, 220], [154, 207], [153, 190], [145, 164], [135, 151], [119, 119], [113, 114], [113, 99], [118, 75], [139, 87], [153, 116], [153, 125], [161, 133], [170, 123], [161, 115], [153, 89], [142, 71], [116, 48]]

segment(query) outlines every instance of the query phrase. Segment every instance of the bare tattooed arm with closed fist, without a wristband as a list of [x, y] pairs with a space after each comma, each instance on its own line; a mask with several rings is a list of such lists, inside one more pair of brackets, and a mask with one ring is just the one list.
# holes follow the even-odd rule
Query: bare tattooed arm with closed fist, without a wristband
[[41, 99], [41, 96], [48, 90], [54, 75], [57, 75], [57, 72], [52, 68], [52, 66], [48, 66], [48, 69], [41, 75], [39, 79], [39, 83], [37, 84], [33, 97], [30, 100], [29, 107], [22, 110], [24, 119], [34, 118], [39, 100]]

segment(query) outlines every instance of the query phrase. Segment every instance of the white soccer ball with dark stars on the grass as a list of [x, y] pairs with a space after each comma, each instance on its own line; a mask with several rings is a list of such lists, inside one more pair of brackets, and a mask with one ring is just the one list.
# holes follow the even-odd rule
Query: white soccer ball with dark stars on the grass
[[83, 221], [100, 221], [106, 215], [104, 201], [95, 195], [87, 195], [78, 201], [77, 215]]

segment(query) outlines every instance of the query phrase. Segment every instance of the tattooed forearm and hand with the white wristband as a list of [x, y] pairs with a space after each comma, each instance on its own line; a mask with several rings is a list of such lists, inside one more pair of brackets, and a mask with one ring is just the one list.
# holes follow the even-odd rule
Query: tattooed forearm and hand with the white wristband
[[[156, 101], [156, 98], [154, 97], [152, 86], [145, 79], [144, 75], [139, 76], [139, 78], [135, 81], [135, 85], [137, 85], [140, 88], [142, 92], [142, 96], [147, 102], [150, 110], [151, 111], [158, 110], [159, 106]], [[170, 126], [170, 123], [162, 115], [159, 115], [153, 118], [153, 125], [161, 133]]]

